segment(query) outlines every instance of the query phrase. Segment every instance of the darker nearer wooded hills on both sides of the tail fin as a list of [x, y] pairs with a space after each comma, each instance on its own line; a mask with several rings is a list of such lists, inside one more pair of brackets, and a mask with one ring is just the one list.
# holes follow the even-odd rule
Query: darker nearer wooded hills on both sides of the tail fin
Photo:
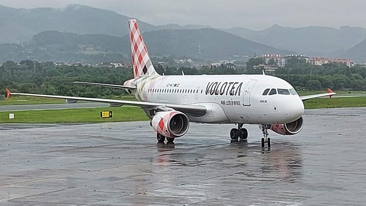
[[[152, 56], [187, 56], [201, 59], [227, 59], [232, 55], [253, 56], [266, 52], [291, 53], [235, 36], [216, 29], [158, 30], [143, 33]], [[39, 61], [80, 61], [101, 63], [102, 60], [131, 58], [129, 35], [76, 34], [57, 31], [38, 33], [28, 44], [0, 44], [0, 62], [33, 59]]]

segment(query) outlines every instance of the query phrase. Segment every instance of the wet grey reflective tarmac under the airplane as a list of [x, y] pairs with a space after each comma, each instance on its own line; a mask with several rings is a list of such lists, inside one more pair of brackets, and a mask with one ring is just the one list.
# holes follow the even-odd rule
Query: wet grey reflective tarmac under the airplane
[[[366, 108], [307, 110], [295, 136], [191, 124], [157, 144], [148, 122], [1, 125], [0, 205], [365, 205]], [[6, 128], [6, 129], [4, 129]]]

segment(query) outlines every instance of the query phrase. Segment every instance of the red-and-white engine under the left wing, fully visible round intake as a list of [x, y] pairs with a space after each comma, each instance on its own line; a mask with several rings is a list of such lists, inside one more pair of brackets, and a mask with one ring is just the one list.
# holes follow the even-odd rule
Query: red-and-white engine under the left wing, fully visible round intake
[[152, 119], [154, 130], [165, 137], [180, 137], [187, 133], [189, 119], [180, 111], [160, 111]]

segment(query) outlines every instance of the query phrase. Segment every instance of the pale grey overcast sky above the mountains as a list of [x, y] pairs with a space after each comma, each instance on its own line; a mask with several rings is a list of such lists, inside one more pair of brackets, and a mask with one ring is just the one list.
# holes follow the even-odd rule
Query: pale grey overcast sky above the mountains
[[153, 25], [366, 27], [366, 0], [0, 0], [0, 5], [15, 8], [67, 4], [108, 9]]

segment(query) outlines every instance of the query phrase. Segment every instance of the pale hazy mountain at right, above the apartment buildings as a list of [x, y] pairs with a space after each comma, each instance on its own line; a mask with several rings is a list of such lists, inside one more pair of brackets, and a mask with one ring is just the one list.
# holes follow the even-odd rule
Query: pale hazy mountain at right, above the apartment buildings
[[365, 28], [350, 26], [342, 26], [339, 29], [321, 26], [292, 28], [275, 24], [260, 31], [241, 27], [221, 30], [272, 47], [298, 51], [310, 56], [329, 55], [340, 49], [348, 49], [366, 38]]

